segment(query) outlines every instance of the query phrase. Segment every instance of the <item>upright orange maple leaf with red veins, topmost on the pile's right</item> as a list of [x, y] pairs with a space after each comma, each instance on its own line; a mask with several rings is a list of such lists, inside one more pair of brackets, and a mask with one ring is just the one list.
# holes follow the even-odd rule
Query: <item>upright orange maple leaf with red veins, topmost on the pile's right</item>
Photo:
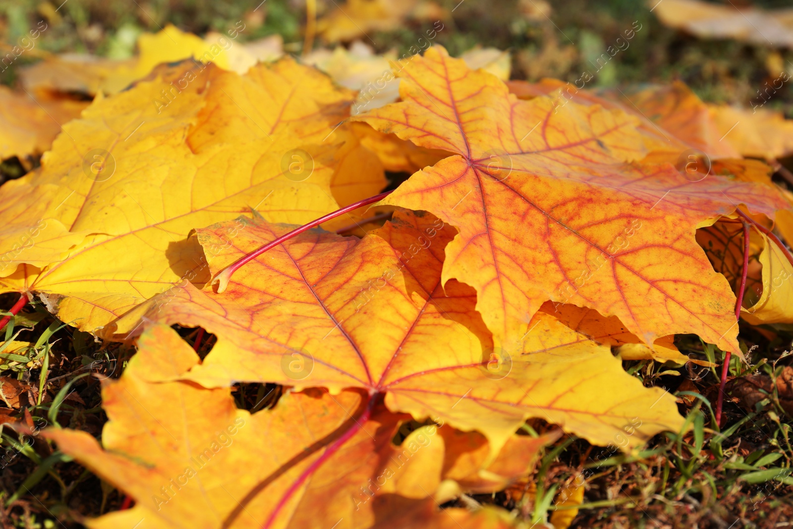
[[734, 294], [694, 231], [741, 203], [773, 217], [787, 207], [773, 190], [624, 163], [646, 154], [635, 117], [521, 101], [437, 46], [399, 75], [402, 102], [352, 119], [457, 153], [383, 203], [459, 229], [443, 280], [477, 289], [497, 347], [517, 347], [542, 303], [561, 301], [617, 316], [648, 345], [691, 332], [737, 351]]

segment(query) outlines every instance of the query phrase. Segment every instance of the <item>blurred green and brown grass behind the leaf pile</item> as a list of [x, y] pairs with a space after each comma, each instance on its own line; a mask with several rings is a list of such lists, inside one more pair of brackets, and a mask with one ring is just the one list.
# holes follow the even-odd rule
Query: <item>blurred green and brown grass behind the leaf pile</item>
[[[285, 51], [300, 53], [305, 28], [305, 0], [6, 0], [0, 2], [0, 42], [13, 45], [40, 21], [48, 24], [40, 52], [90, 53], [124, 59], [135, 53], [136, 38], [156, 32], [167, 23], [203, 35], [224, 32], [243, 21], [243, 40], [278, 33]], [[317, 2], [317, 16], [335, 7], [333, 0]], [[681, 79], [709, 102], [748, 107], [757, 88], [780, 71], [793, 70], [793, 53], [736, 40], [699, 40], [661, 25], [649, 4], [636, 0], [440, 0], [448, 15], [435, 42], [453, 55], [475, 45], [508, 49], [513, 79], [555, 77], [575, 81], [592, 69], [600, 56], [634, 21], [642, 29], [599, 72], [592, 86]], [[721, 2], [728, 5], [728, 2]], [[787, 0], [731, 0], [734, 6], [774, 8]], [[428, 22], [407, 21], [393, 32], [370, 33], [376, 52], [396, 48], [400, 54], [431, 28]], [[322, 43], [316, 42], [315, 48]], [[36, 60], [29, 54], [18, 65]], [[0, 82], [13, 85], [14, 67], [0, 73]], [[793, 116], [789, 86], [768, 102], [770, 109]]]

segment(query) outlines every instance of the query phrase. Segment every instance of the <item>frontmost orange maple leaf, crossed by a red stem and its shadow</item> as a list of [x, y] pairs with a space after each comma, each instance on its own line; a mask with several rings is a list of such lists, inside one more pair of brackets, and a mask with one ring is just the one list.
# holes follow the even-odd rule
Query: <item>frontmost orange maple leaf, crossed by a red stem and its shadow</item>
[[[83, 431], [43, 432], [136, 500], [134, 508], [90, 520], [88, 527], [327, 529], [381, 527], [379, 520], [404, 516], [427, 516], [429, 527], [449, 516], [479, 527], [478, 517], [462, 509], [435, 508], [431, 496], [442, 481], [495, 492], [493, 485], [531, 470], [538, 450], [558, 437], [513, 435], [504, 455], [523, 452], [515, 468], [498, 460], [488, 466], [481, 435], [448, 426], [419, 427], [393, 445], [408, 416], [379, 402], [367, 407], [357, 391], [287, 392], [274, 408], [251, 414], [236, 408], [228, 388], [167, 381], [198, 362], [176, 332], [154, 326], [141, 336], [121, 378], [102, 389], [109, 417], [103, 447]], [[350, 427], [354, 434], [346, 435]], [[491, 477], [489, 484], [480, 471]]]

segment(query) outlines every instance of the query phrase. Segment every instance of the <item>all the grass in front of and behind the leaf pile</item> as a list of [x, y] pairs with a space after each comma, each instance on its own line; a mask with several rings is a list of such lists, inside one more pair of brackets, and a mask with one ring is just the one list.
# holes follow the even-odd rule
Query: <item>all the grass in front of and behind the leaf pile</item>
[[[442, 3], [447, 10], [458, 2]], [[782, 0], [757, 2], [783, 6]], [[513, 78], [538, 79], [550, 75], [574, 81], [586, 68], [586, 57], [600, 53], [607, 43], [642, 24], [630, 48], [615, 57], [593, 86], [682, 79], [700, 97], [712, 102], [749, 106], [753, 94], [775, 68], [793, 60], [788, 51], [748, 46], [734, 41], [701, 41], [662, 27], [641, 2], [633, 0], [564, 0], [553, 2], [554, 25], [540, 17], [516, 16], [517, 2], [467, 0], [437, 42], [458, 54], [474, 44], [510, 49]], [[71, 0], [57, 6], [40, 0], [19, 0], [0, 6], [0, 36], [13, 43], [37, 17], [51, 25], [40, 47], [47, 52], [91, 52], [125, 58], [134, 52], [137, 34], [156, 31], [167, 22], [194, 33], [223, 30], [238, 20], [251, 40], [272, 33], [284, 36], [287, 48], [300, 52], [305, 15], [285, 0], [268, 0], [260, 12], [231, 0], [147, 2], [145, 12], [134, 2]], [[266, 16], [262, 17], [262, 13]], [[426, 26], [426, 27], [425, 27]], [[409, 23], [394, 33], [374, 33], [377, 52], [397, 48], [407, 52], [429, 25]], [[0, 82], [13, 85], [16, 67], [32, 62], [22, 56], [15, 67], [0, 73]], [[793, 117], [793, 92], [784, 86], [766, 108]], [[37, 160], [32, 160], [36, 167]], [[788, 169], [793, 159], [783, 160]], [[24, 174], [16, 159], [0, 163], [3, 178]], [[0, 296], [0, 310], [11, 307], [17, 294]], [[6, 331], [3, 331], [6, 332]], [[179, 329], [190, 342], [195, 329]], [[3, 377], [18, 381], [25, 391], [7, 416], [29, 429], [70, 427], [99, 436], [107, 417], [101, 408], [101, 379], [117, 378], [134, 348], [121, 343], [98, 343], [93, 336], [64, 326], [42, 305], [28, 305], [15, 318], [11, 335], [33, 343], [19, 351], [0, 351]], [[7, 337], [6, 337], [7, 339]], [[746, 362], [734, 358], [730, 376], [747, 379], [766, 375], [776, 379], [791, 366], [793, 328], [741, 326]], [[203, 358], [214, 343], [205, 336]], [[721, 362], [723, 354], [692, 336], [676, 340], [684, 354]], [[555, 509], [554, 497], [563, 486], [583, 475], [585, 503], [573, 527], [793, 527], [793, 449], [791, 417], [784, 395], [773, 387], [757, 403], [728, 400], [724, 426], [715, 424], [718, 371], [696, 366], [656, 362], [625, 362], [626, 370], [646, 386], [663, 387], [678, 397], [680, 413], [691, 431], [685, 435], [657, 435], [641, 451], [623, 453], [612, 447], [592, 447], [584, 439], [563, 436], [549, 447], [534, 473], [510, 489], [474, 495], [451, 504], [498, 504], [538, 523]], [[271, 391], [275, 389], [275, 391]], [[239, 408], [268, 408], [278, 400], [275, 385], [243, 384], [235, 388]], [[4, 391], [4, 393], [6, 393]], [[2, 412], [2, 411], [0, 411]], [[527, 424], [536, 435], [554, 426], [540, 420]], [[403, 432], [406, 435], [407, 432]], [[630, 435], [630, 431], [626, 431]], [[82, 527], [84, 517], [117, 510], [123, 493], [100, 481], [36, 435], [18, 435], [6, 427], [0, 435], [0, 523], [3, 527]], [[534, 500], [534, 499], [537, 500]]]

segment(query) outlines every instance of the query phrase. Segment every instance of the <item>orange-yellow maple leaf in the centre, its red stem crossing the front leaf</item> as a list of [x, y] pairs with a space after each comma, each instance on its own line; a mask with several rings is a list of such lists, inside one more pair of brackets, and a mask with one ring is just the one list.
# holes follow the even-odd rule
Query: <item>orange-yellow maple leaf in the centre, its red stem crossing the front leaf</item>
[[[246, 228], [233, 240], [228, 224], [198, 230], [213, 275], [290, 230], [240, 220]], [[630, 428], [630, 446], [680, 426], [671, 396], [642, 387], [608, 347], [552, 316], [531, 320], [520, 351], [494, 348], [475, 291], [441, 285], [453, 236], [437, 218], [404, 211], [362, 240], [304, 232], [237, 270], [222, 293], [174, 288], [150, 302], [146, 317], [218, 337], [183, 375], [206, 387], [268, 381], [385, 393], [392, 411], [481, 431], [492, 450], [528, 416], [592, 443]]]

